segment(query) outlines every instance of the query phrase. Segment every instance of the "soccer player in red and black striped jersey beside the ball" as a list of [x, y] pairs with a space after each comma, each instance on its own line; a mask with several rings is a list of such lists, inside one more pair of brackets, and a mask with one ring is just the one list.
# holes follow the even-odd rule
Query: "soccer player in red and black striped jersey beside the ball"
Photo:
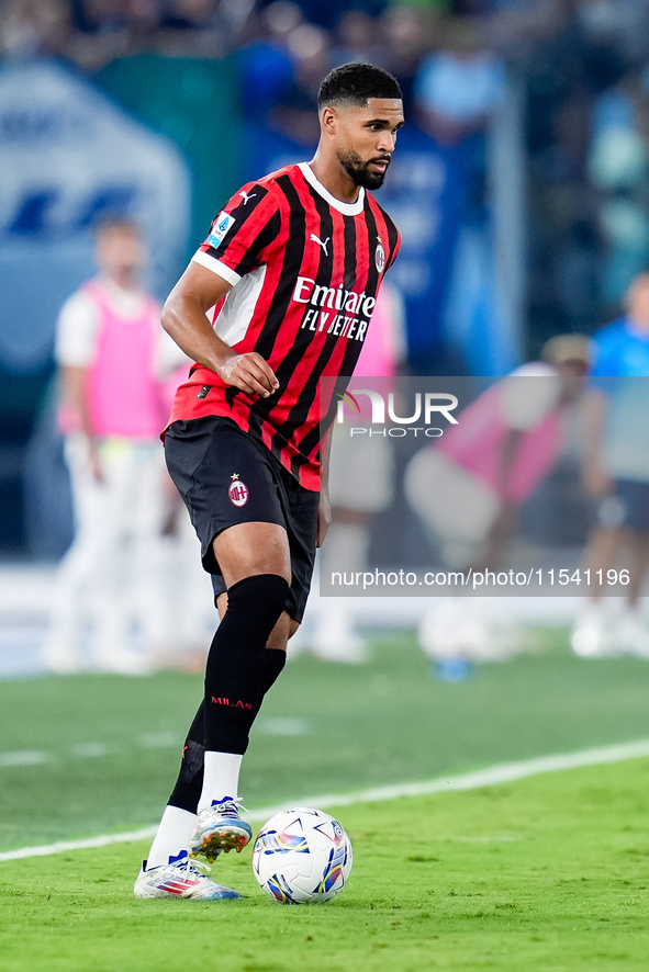
[[329, 521], [321, 418], [333, 420], [336, 403], [322, 400], [318, 381], [351, 375], [399, 250], [366, 191], [382, 184], [403, 124], [399, 84], [372, 65], [343, 65], [322, 82], [318, 111], [312, 161], [235, 193], [163, 312], [197, 362], [176, 395], [167, 465], [222, 621], [137, 897], [239, 896], [193, 859], [213, 862], [251, 837], [238, 813], [242, 758]]

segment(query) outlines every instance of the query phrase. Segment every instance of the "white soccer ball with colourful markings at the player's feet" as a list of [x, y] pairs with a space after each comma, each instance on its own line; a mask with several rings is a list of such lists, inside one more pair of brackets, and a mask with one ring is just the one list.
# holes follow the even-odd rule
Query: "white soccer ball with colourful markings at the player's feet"
[[331, 901], [349, 878], [351, 841], [322, 810], [282, 810], [259, 832], [253, 870], [264, 891], [282, 904]]

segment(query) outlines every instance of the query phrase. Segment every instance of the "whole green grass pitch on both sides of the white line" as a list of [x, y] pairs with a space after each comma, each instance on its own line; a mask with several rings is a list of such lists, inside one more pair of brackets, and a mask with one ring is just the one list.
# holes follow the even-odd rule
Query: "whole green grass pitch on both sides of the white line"
[[[562, 631], [535, 646], [462, 685], [432, 679], [406, 633], [367, 667], [298, 659], [262, 710], [246, 804], [649, 737], [649, 664], [581, 662]], [[155, 823], [200, 683], [0, 683], [0, 850]], [[303, 734], [265, 734], [282, 719]], [[2, 764], [24, 751], [44, 761]], [[347, 806], [354, 871], [328, 906], [267, 898], [249, 850], [216, 864], [234, 903], [135, 901], [145, 844], [0, 862], [0, 969], [646, 970], [648, 811], [649, 760]]]

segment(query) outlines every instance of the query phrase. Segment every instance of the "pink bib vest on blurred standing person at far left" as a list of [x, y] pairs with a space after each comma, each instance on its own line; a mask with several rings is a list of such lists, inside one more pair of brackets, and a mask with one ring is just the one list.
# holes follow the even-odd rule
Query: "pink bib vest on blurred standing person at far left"
[[94, 360], [88, 369], [88, 399], [97, 436], [157, 439], [164, 426], [160, 384], [154, 373], [158, 307], [146, 297], [139, 317], [124, 320], [98, 281], [83, 292], [99, 313]]

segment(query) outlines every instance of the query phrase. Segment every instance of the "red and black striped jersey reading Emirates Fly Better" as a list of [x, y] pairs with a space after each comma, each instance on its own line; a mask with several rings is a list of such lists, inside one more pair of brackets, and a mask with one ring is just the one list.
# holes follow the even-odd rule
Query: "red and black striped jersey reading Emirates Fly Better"
[[193, 260], [233, 284], [215, 308], [216, 334], [238, 353], [261, 354], [279, 388], [269, 398], [248, 395], [197, 364], [169, 421], [232, 418], [303, 486], [318, 489], [320, 423], [323, 411], [335, 414], [335, 403], [320, 399], [320, 378], [353, 374], [399, 246], [396, 227], [369, 193], [360, 189], [355, 203], [343, 203], [306, 162], [247, 183]]

